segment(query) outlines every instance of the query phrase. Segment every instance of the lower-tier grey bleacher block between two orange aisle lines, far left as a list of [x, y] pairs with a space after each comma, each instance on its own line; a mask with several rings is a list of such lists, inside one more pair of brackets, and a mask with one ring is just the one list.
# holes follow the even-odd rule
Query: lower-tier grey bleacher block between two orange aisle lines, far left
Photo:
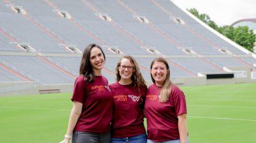
[[75, 78], [36, 56], [0, 56], [0, 60], [12, 70], [35, 81], [36, 84], [68, 84]]

